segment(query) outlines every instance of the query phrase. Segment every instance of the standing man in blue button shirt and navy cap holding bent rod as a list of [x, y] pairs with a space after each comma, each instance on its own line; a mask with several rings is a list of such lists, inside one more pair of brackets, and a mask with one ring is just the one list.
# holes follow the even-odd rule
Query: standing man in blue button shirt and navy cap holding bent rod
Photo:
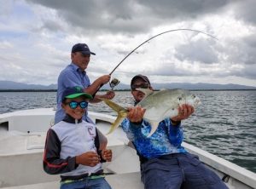
[[[86, 68], [90, 62], [90, 54], [96, 55], [91, 52], [88, 45], [85, 43], [77, 43], [73, 45], [71, 50], [71, 64], [69, 64], [64, 70], [61, 71], [58, 77], [58, 89], [57, 89], [57, 108], [55, 112], [55, 123], [63, 120], [65, 117], [65, 112], [61, 108], [61, 96], [63, 91], [67, 88], [72, 88], [74, 86], [80, 86], [84, 89], [84, 93], [95, 94], [102, 84], [108, 83], [110, 80], [110, 75], [103, 75], [98, 77], [93, 83], [90, 83], [90, 79], [86, 73]], [[106, 94], [95, 95], [90, 103], [100, 102], [98, 97], [113, 99], [113, 91], [108, 91]], [[83, 116], [83, 119], [87, 122], [92, 123], [90, 117], [87, 116], [87, 111]], [[102, 135], [102, 133], [97, 129], [101, 144], [107, 146], [107, 138]]]

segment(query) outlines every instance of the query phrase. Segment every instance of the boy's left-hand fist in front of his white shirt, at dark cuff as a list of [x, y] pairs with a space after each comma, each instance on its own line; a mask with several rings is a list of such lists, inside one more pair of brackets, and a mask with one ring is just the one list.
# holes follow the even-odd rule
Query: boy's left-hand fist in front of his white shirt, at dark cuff
[[96, 166], [97, 163], [100, 163], [100, 156], [96, 152], [85, 152], [79, 156], [76, 156], [76, 163], [83, 164], [90, 167]]

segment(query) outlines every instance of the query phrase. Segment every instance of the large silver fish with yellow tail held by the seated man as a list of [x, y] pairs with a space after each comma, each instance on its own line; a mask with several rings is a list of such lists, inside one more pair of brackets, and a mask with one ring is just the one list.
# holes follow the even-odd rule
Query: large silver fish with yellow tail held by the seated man
[[[148, 137], [154, 134], [159, 123], [168, 117], [176, 117], [178, 115], [178, 107], [187, 104], [196, 108], [201, 104], [201, 100], [189, 90], [184, 89], [164, 89], [160, 91], [152, 91], [150, 89], [137, 89], [142, 91], [145, 96], [137, 106], [142, 106], [146, 109], [143, 119], [150, 123], [151, 130]], [[118, 117], [112, 123], [108, 134], [119, 127], [119, 124], [127, 117], [127, 109], [121, 107], [108, 99], [102, 99], [115, 112], [118, 112]]]

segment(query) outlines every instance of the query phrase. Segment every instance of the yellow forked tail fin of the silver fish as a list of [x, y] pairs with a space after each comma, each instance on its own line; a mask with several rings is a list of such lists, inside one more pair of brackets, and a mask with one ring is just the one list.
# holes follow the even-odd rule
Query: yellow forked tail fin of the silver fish
[[122, 123], [122, 121], [125, 119], [125, 117], [127, 117], [127, 110], [122, 107], [119, 106], [118, 104], [114, 103], [111, 100], [108, 99], [104, 99], [104, 98], [99, 98], [101, 100], [103, 100], [109, 107], [111, 107], [115, 112], [118, 113], [117, 118], [114, 120], [114, 122], [111, 124], [111, 127], [108, 131], [108, 134], [111, 134], [113, 132], [114, 129], [117, 129], [119, 127], [119, 124]]

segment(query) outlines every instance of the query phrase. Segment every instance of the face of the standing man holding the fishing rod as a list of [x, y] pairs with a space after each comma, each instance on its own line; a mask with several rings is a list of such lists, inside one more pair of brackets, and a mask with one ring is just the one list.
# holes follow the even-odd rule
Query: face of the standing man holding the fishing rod
[[90, 54], [82, 54], [81, 52], [72, 53], [71, 60], [84, 71], [90, 62]]

